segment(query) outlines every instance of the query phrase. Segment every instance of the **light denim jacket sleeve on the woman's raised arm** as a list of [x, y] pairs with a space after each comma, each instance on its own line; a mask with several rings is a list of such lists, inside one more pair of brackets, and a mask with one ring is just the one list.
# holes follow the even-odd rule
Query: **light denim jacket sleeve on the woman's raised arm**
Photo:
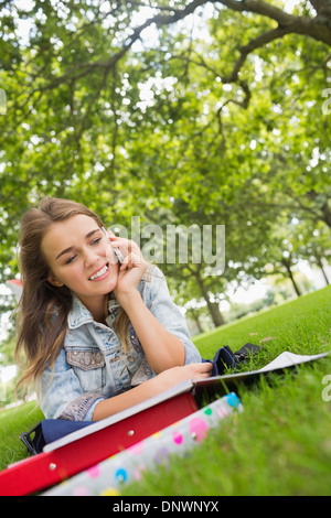
[[146, 283], [147, 307], [169, 333], [182, 341], [185, 348], [185, 365], [200, 363], [200, 353], [190, 338], [184, 316], [170, 296], [164, 274], [158, 267], [152, 267], [149, 274], [150, 282]]

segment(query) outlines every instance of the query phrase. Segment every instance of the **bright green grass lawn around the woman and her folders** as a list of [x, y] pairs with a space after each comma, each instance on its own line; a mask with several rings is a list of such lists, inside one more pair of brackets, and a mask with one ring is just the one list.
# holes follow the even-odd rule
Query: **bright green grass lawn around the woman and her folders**
[[[202, 356], [222, 345], [237, 350], [247, 342], [265, 349], [245, 370], [258, 369], [284, 350], [331, 350], [331, 287], [245, 317], [194, 338]], [[271, 338], [271, 339], [269, 339]], [[184, 458], [147, 472], [121, 494], [139, 496], [330, 495], [331, 401], [323, 377], [331, 358], [274, 376], [271, 384], [239, 389], [244, 412], [223, 420]], [[330, 390], [329, 390], [330, 393]], [[1, 468], [25, 456], [18, 440], [42, 414], [34, 403], [0, 412]]]

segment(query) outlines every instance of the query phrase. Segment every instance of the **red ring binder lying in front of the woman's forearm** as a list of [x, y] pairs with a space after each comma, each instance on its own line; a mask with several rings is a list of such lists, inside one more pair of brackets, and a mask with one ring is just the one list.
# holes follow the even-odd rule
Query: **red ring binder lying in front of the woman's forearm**
[[97, 421], [44, 446], [43, 452], [0, 473], [1, 496], [23, 496], [79, 473], [195, 412], [185, 381], [161, 396]]

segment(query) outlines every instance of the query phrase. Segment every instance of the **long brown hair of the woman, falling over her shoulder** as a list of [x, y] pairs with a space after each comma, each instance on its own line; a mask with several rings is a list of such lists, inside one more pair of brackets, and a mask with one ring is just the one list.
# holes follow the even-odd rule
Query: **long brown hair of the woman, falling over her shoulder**
[[[67, 315], [73, 304], [72, 292], [65, 285], [58, 288], [49, 281], [50, 267], [42, 253], [41, 244], [50, 226], [78, 214], [92, 217], [99, 228], [103, 222], [84, 205], [70, 199], [46, 197], [39, 208], [32, 208], [21, 220], [20, 270], [23, 292], [19, 304], [19, 332], [15, 360], [20, 363], [23, 350], [26, 365], [19, 379], [31, 384], [58, 356], [67, 328]], [[115, 327], [124, 339], [126, 348], [125, 323], [127, 315], [121, 310]]]

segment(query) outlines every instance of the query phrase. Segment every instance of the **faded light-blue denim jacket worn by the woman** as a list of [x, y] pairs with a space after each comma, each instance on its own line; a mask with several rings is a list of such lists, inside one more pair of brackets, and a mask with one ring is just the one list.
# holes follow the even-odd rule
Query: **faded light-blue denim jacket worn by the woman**
[[[162, 326], [182, 341], [185, 365], [201, 361], [190, 339], [184, 317], [172, 302], [160, 269], [149, 266], [138, 290]], [[40, 377], [39, 403], [45, 418], [90, 421], [99, 401], [156, 376], [131, 323], [128, 326], [129, 348], [125, 353], [113, 328], [119, 310], [115, 298], [110, 298], [108, 309], [107, 325], [95, 322], [90, 312], [73, 294], [64, 346], [54, 363], [53, 373], [49, 367]]]

